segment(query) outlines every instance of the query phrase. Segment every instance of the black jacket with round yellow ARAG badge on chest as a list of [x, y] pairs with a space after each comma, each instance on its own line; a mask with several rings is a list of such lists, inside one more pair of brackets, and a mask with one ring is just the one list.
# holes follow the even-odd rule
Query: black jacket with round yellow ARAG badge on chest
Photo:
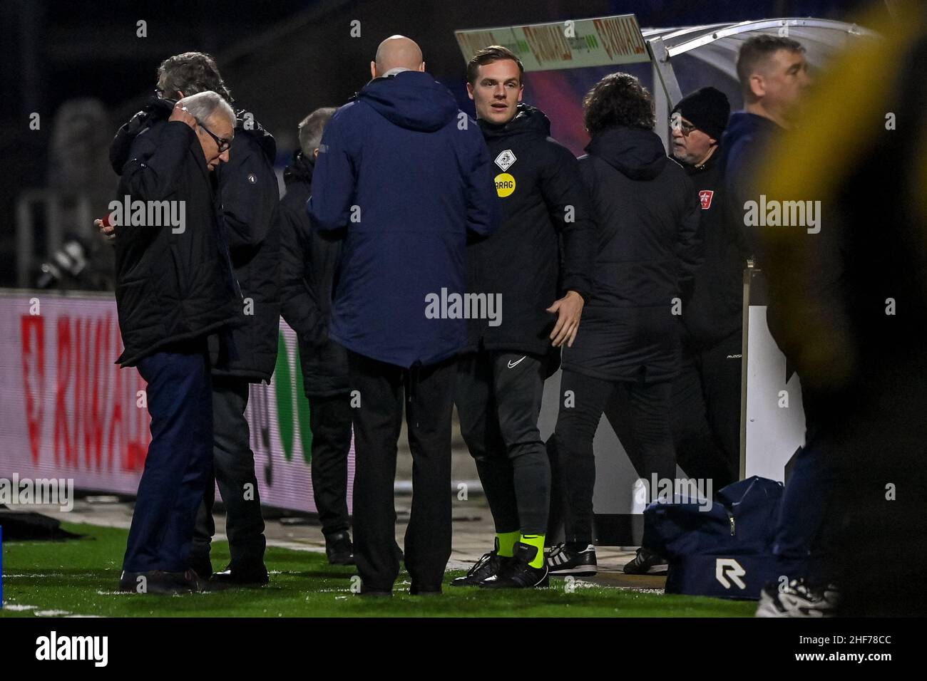
[[589, 195], [577, 159], [552, 139], [551, 121], [539, 109], [521, 104], [505, 125], [480, 120], [479, 126], [498, 173], [502, 226], [467, 246], [467, 291], [500, 294], [502, 314], [496, 325], [470, 320], [467, 350], [482, 345], [545, 355], [556, 322], [547, 308], [569, 290], [589, 300], [595, 261]]

